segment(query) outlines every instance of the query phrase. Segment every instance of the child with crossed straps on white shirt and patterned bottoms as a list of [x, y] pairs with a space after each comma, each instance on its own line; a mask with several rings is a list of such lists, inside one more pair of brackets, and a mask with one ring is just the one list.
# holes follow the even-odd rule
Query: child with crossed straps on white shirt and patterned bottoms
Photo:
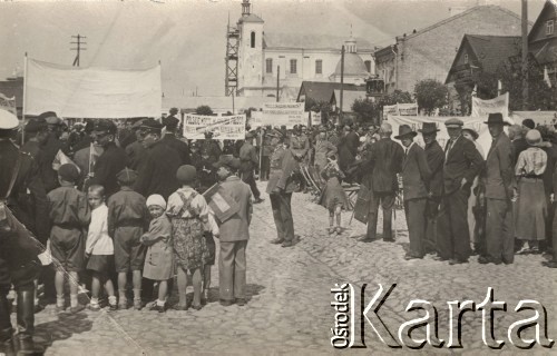
[[176, 172], [176, 178], [182, 188], [168, 198], [166, 214], [173, 226], [173, 245], [175, 260], [178, 269], [179, 303], [176, 309], [187, 310], [186, 286], [187, 275], [193, 276], [194, 300], [192, 307], [202, 308], [202, 274], [209, 258], [209, 250], [204, 237], [208, 227], [209, 208], [205, 198], [195, 191], [197, 172], [193, 166], [182, 166]]

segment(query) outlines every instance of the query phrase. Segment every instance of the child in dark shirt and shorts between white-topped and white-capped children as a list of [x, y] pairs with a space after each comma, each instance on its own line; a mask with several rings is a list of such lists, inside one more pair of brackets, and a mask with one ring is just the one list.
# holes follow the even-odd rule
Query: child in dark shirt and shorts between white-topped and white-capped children
[[141, 235], [149, 221], [145, 198], [131, 190], [137, 179], [135, 170], [125, 168], [118, 175], [120, 190], [108, 199], [108, 235], [114, 240], [114, 258], [118, 273], [118, 307], [127, 309], [126, 285], [131, 270], [134, 284], [134, 309], [141, 309], [141, 269], [145, 246]]

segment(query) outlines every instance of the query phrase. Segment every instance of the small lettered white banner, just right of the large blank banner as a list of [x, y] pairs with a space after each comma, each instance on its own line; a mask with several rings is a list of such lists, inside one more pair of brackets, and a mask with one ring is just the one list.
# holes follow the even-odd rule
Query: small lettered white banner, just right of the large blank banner
[[205, 132], [213, 132], [216, 140], [245, 139], [245, 115], [184, 117], [184, 137], [189, 140], [205, 139]]

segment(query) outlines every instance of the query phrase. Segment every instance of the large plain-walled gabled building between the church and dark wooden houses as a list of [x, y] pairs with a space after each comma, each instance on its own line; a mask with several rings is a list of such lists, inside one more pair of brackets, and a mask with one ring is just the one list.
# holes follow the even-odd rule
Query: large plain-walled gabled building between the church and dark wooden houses
[[424, 29], [395, 38], [395, 44], [375, 51], [375, 72], [388, 92], [413, 92], [422, 79], [444, 82], [466, 33], [520, 36], [520, 17], [497, 6], [479, 6]]

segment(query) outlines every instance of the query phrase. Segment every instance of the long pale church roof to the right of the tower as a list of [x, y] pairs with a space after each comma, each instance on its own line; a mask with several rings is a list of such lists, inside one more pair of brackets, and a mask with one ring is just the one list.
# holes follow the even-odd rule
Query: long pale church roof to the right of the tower
[[[314, 33], [265, 33], [264, 48], [267, 49], [329, 49], [341, 50], [342, 44], [346, 40], [345, 37]], [[363, 38], [356, 38], [358, 50], [368, 52], [373, 50], [373, 46]]]

